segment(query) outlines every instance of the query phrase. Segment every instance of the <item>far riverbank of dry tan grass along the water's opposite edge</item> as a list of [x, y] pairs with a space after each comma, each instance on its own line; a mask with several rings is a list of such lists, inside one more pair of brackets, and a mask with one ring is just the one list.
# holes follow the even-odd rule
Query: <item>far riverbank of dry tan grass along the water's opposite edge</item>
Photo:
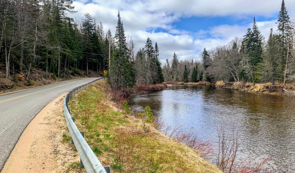
[[216, 83], [209, 83], [206, 81], [199, 82], [165, 82], [165, 84], [171, 85], [215, 85], [220, 88], [231, 88], [234, 90], [241, 90], [252, 93], [266, 93], [266, 94], [278, 94], [287, 97], [295, 97], [295, 85], [293, 83], [286, 84], [284, 87], [281, 84], [272, 85], [271, 83], [244, 83], [244, 82], [224, 82], [219, 80]]

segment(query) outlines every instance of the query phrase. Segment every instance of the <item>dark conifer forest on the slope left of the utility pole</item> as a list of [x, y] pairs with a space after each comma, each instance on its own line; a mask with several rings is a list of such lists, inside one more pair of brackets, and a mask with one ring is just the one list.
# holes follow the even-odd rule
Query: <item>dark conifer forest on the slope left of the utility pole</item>
[[5, 0], [0, 2], [0, 63], [5, 77], [40, 68], [55, 76], [103, 71], [108, 62], [110, 32], [89, 14], [81, 22], [72, 0]]

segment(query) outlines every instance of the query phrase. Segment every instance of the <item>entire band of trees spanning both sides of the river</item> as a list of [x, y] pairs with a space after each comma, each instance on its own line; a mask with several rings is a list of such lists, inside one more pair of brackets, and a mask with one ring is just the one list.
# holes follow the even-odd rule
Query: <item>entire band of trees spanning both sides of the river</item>
[[284, 1], [278, 15], [278, 34], [270, 29], [268, 38], [263, 38], [254, 17], [253, 27], [243, 38], [212, 50], [204, 48], [201, 61], [179, 61], [176, 52], [163, 66], [157, 42], [147, 38], [145, 47], [135, 49], [132, 37], [124, 33], [119, 11], [116, 32], [112, 34], [109, 29], [104, 33], [103, 24], [88, 13], [81, 21], [67, 17], [66, 12], [76, 12], [72, 3], [0, 1], [0, 67], [5, 67], [2, 77], [22, 74], [30, 78], [32, 68], [54, 78], [107, 70], [110, 83], [117, 89], [164, 81], [274, 84], [295, 80], [295, 22]]

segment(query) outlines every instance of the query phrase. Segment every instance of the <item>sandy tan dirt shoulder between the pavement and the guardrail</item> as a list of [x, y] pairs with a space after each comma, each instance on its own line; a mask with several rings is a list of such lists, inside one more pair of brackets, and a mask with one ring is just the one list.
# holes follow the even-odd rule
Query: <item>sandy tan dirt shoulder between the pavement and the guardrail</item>
[[80, 161], [63, 115], [63, 94], [45, 106], [30, 122], [7, 159], [1, 173], [66, 172]]

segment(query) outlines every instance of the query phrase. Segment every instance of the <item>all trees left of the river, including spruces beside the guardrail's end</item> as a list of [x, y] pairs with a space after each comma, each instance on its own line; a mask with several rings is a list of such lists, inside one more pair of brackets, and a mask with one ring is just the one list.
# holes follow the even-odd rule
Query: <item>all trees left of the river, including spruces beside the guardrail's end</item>
[[30, 80], [32, 69], [46, 77], [88, 75], [92, 70], [108, 77], [116, 88], [164, 81], [157, 43], [147, 38], [135, 52], [126, 38], [118, 11], [116, 32], [89, 13], [78, 21], [72, 0], [7, 0], [0, 2], [0, 78], [22, 75]]

